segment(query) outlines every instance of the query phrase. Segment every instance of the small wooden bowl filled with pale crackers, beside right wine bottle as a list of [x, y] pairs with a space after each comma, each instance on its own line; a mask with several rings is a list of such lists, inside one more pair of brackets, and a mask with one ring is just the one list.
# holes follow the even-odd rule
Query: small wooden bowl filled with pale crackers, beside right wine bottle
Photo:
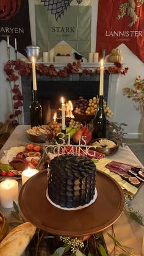
[[118, 151], [118, 144], [113, 139], [99, 138], [93, 139], [90, 145], [94, 146], [93, 150], [96, 152], [103, 153], [104, 155], [113, 155]]

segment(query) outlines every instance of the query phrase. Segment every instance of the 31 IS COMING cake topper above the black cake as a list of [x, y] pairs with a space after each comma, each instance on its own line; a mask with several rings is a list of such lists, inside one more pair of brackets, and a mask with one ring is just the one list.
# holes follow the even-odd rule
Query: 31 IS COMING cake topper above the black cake
[[64, 154], [71, 154], [74, 156], [89, 156], [90, 158], [95, 158], [95, 151], [93, 148], [95, 146], [86, 145], [85, 135], [79, 136], [79, 144], [72, 145], [70, 144], [70, 133], [66, 134], [68, 136], [68, 144], [65, 141], [65, 134], [64, 133], [57, 133], [59, 136], [60, 144], [56, 142], [56, 145], [45, 145], [45, 152], [48, 154], [49, 152], [54, 153], [54, 155], [64, 155]]

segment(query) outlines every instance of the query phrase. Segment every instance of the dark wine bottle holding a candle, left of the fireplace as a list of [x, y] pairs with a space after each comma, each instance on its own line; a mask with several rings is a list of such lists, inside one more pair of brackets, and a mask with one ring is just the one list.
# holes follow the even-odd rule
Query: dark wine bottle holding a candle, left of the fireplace
[[42, 125], [42, 107], [38, 102], [37, 90], [32, 90], [32, 103], [29, 106], [31, 127]]

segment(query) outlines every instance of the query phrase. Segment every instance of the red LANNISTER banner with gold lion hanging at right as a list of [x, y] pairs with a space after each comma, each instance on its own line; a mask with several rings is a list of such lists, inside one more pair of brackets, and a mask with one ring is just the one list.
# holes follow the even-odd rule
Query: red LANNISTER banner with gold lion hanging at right
[[144, 0], [99, 0], [96, 52], [121, 43], [144, 62]]

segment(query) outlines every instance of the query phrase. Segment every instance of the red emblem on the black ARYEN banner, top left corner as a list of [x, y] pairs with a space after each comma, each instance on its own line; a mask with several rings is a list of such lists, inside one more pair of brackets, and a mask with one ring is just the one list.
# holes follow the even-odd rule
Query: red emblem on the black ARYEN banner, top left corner
[[0, 20], [9, 20], [21, 7], [21, 0], [0, 0]]

